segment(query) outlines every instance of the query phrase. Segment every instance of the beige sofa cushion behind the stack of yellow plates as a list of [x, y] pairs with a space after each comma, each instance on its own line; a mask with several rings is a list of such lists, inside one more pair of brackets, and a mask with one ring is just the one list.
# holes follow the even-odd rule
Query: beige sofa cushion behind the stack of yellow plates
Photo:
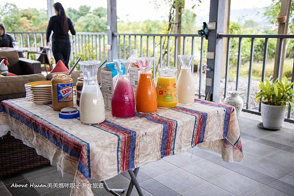
[[0, 77], [0, 95], [25, 92], [25, 83], [42, 80], [46, 80], [46, 77], [41, 73]]

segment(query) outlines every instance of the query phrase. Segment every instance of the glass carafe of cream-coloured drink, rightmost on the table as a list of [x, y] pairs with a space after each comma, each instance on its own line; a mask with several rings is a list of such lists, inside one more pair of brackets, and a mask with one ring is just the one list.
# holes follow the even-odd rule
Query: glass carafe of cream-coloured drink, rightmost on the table
[[195, 99], [195, 83], [191, 71], [194, 55], [178, 55], [181, 71], [177, 80], [177, 93], [179, 103], [192, 104]]

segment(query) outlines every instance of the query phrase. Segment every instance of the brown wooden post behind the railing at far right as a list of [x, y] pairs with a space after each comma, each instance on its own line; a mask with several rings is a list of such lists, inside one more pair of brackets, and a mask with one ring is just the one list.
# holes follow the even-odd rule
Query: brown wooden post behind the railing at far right
[[[279, 23], [278, 27], [278, 34], [287, 34], [288, 33], [288, 23], [289, 23], [289, 18], [290, 18], [290, 9], [291, 9], [291, 0], [281, 0], [281, 12], [280, 15], [285, 14], [287, 15], [287, 19], [285, 23]], [[277, 16], [278, 17], [278, 16]], [[285, 50], [286, 50], [286, 40], [284, 40], [284, 44], [282, 45], [282, 54], [280, 56], [280, 62], [278, 61], [279, 54], [279, 45], [280, 45], [280, 40], [277, 39], [277, 45], [276, 45], [276, 53], [275, 53], [275, 58], [274, 58], [274, 69], [273, 69], [273, 78], [279, 78], [281, 79], [283, 76], [283, 66], [284, 66], [284, 59], [285, 59]], [[280, 66], [280, 69], [279, 69]], [[279, 70], [279, 71], [278, 71]], [[278, 75], [278, 73], [280, 73]]]

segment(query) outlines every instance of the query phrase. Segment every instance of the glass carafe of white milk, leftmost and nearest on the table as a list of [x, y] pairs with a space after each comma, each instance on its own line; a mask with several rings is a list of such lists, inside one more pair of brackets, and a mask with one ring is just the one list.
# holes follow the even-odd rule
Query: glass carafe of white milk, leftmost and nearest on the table
[[105, 107], [98, 85], [97, 72], [100, 61], [80, 61], [84, 84], [80, 98], [80, 120], [83, 124], [98, 124], [105, 120]]

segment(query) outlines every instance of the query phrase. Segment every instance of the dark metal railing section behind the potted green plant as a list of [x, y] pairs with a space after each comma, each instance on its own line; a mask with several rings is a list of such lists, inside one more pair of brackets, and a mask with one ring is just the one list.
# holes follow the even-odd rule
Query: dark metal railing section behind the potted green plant
[[[251, 88], [252, 88], [252, 70], [253, 70], [253, 60], [254, 60], [254, 47], [255, 47], [255, 40], [256, 39], [264, 39], [264, 51], [263, 51], [263, 60], [262, 60], [262, 71], [261, 71], [261, 81], [264, 82], [266, 78], [266, 66], [267, 66], [267, 57], [268, 57], [268, 46], [269, 46], [269, 39], [275, 39], [278, 41], [278, 58], [277, 58], [277, 68], [276, 68], [276, 75], [280, 76], [281, 72], [281, 62], [282, 62], [282, 49], [283, 44], [285, 44], [286, 39], [294, 39], [294, 35], [229, 35], [229, 34], [219, 34], [219, 38], [227, 38], [227, 48], [226, 48], [226, 57], [225, 57], [225, 84], [224, 84], [224, 93], [223, 96], [225, 97], [228, 90], [228, 81], [229, 81], [229, 66], [230, 66], [230, 47], [231, 47], [231, 40], [238, 39], [238, 60], [237, 60], [237, 71], [236, 71], [236, 83], [235, 83], [235, 90], [238, 90], [240, 87], [240, 72], [241, 72], [241, 56], [242, 56], [242, 41], [244, 39], [251, 39], [251, 46], [250, 46], [250, 57], [249, 57], [249, 70], [248, 70], [248, 81], [247, 81], [247, 91], [246, 91], [246, 98], [245, 98], [245, 108], [243, 111], [259, 114], [261, 110], [261, 103], [259, 103], [258, 108], [250, 107], [250, 95], [251, 95]], [[273, 73], [272, 73], [273, 74]], [[291, 81], [294, 81], [294, 63], [292, 69], [292, 77]], [[294, 111], [289, 107], [287, 118], [285, 121], [294, 123], [293, 120]]]

